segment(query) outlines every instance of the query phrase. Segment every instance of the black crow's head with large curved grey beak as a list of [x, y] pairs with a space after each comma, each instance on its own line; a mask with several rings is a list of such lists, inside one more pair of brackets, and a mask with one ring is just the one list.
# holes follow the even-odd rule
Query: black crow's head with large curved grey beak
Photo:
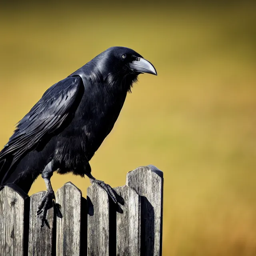
[[157, 76], [156, 69], [134, 50], [115, 46], [108, 48], [94, 59], [97, 70], [104, 76], [109, 88], [130, 91], [139, 74]]

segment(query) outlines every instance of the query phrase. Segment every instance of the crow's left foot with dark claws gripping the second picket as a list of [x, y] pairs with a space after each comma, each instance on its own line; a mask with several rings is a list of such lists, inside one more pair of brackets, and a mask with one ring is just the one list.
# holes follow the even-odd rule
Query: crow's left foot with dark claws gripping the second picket
[[41, 228], [46, 224], [46, 215], [48, 209], [52, 207], [52, 200], [55, 199], [54, 191], [47, 190], [41, 198], [40, 203], [37, 206], [36, 215], [41, 219]]

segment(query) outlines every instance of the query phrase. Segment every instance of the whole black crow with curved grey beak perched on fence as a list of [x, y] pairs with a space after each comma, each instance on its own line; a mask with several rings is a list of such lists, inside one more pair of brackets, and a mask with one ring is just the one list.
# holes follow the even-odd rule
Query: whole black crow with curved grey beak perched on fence
[[138, 74], [157, 75], [154, 66], [125, 47], [111, 47], [51, 86], [18, 122], [0, 152], [0, 184], [28, 193], [39, 174], [46, 194], [38, 204], [45, 223], [54, 199], [54, 171], [73, 172], [99, 184], [116, 202], [112, 188], [91, 174], [90, 159], [112, 130]]

